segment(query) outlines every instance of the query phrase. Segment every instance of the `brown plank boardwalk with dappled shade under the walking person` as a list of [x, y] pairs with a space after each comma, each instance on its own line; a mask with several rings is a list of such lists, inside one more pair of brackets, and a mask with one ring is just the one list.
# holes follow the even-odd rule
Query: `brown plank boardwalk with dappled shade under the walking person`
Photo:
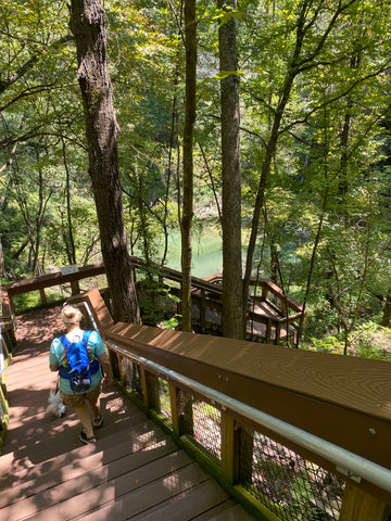
[[104, 423], [94, 445], [79, 442], [72, 410], [60, 420], [47, 416], [59, 308], [18, 317], [17, 326], [18, 351], [7, 369], [1, 521], [253, 519], [116, 387], [103, 390]]

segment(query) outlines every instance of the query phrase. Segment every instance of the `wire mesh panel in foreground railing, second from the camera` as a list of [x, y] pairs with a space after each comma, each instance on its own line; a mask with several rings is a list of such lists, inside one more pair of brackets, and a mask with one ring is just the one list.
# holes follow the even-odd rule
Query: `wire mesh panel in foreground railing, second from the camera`
[[178, 394], [182, 431], [214, 463], [222, 456], [222, 415], [213, 405], [181, 391]]

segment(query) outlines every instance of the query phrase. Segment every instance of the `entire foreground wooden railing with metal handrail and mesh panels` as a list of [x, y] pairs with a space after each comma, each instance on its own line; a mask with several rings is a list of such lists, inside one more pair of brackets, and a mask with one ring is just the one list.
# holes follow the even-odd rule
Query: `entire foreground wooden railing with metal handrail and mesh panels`
[[114, 323], [97, 290], [73, 301], [124, 391], [258, 519], [389, 520], [389, 363]]

